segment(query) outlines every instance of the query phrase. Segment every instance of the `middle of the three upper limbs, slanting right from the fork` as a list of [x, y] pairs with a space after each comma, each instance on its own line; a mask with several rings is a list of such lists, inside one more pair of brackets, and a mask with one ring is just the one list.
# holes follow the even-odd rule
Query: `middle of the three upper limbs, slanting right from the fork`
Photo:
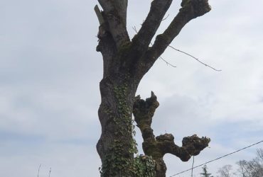
[[141, 29], [138, 34], [134, 36], [132, 42], [136, 49], [141, 52], [145, 52], [151, 39], [154, 37], [156, 30], [159, 28], [163, 16], [166, 14], [166, 11], [170, 7], [173, 0], [154, 0], [151, 2], [151, 8], [146, 17], [146, 20], [141, 25]]

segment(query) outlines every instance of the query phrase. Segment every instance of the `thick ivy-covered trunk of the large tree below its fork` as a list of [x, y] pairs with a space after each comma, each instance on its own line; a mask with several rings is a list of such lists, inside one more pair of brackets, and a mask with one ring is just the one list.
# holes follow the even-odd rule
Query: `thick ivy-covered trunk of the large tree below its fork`
[[136, 144], [132, 136], [132, 109], [138, 82], [128, 73], [107, 76], [100, 82], [99, 118], [102, 135], [97, 152], [102, 176], [132, 176]]

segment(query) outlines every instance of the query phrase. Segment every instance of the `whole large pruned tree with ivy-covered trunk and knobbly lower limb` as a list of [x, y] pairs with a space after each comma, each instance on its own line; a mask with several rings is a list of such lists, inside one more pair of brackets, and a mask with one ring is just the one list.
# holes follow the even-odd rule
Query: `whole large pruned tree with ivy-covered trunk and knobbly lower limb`
[[[208, 147], [210, 139], [196, 135], [183, 138], [182, 147], [173, 142], [173, 135], [154, 136], [151, 122], [159, 106], [156, 96], [146, 101], [135, 97], [144, 74], [180, 33], [186, 23], [210, 11], [208, 0], [183, 0], [178, 14], [168, 28], [152, 38], [172, 0], [151, 2], [146, 20], [132, 38], [127, 33], [128, 0], [98, 0], [103, 11], [95, 6], [100, 28], [97, 52], [103, 57], [103, 78], [100, 81], [101, 104], [98, 110], [102, 135], [97, 142], [97, 152], [102, 160], [102, 176], [165, 176], [163, 156], [171, 153], [182, 161], [198, 155]], [[132, 113], [141, 130], [145, 156], [137, 156]]]

